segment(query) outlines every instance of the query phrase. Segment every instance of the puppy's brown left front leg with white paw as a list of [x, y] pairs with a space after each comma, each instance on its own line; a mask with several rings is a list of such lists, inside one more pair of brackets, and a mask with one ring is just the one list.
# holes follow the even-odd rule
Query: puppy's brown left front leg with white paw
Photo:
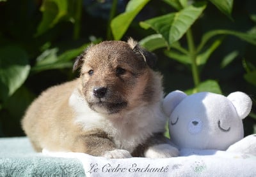
[[93, 156], [106, 157], [108, 159], [130, 158], [127, 150], [117, 149], [112, 139], [105, 132], [93, 131], [77, 136], [74, 143], [75, 152], [84, 152]]

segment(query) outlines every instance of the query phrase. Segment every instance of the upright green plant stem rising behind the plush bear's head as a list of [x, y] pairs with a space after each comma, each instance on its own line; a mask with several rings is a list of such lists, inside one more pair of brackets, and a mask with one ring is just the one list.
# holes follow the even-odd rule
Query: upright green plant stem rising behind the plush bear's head
[[191, 59], [191, 69], [193, 74], [193, 80], [195, 87], [197, 87], [200, 83], [200, 76], [198, 71], [198, 66], [196, 65], [196, 48], [195, 43], [192, 35], [191, 29], [188, 29], [186, 32], [186, 37], [188, 41], [188, 49], [189, 49], [189, 58]]

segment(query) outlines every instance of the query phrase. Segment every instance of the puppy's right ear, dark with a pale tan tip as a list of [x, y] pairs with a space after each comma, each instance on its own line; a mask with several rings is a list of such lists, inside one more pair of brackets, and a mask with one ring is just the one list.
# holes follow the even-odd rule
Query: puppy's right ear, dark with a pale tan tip
[[129, 38], [127, 43], [131, 46], [134, 53], [136, 53], [139, 57], [143, 57], [149, 67], [153, 68], [156, 65], [157, 57], [154, 53], [147, 51], [145, 48], [142, 48], [132, 38]]

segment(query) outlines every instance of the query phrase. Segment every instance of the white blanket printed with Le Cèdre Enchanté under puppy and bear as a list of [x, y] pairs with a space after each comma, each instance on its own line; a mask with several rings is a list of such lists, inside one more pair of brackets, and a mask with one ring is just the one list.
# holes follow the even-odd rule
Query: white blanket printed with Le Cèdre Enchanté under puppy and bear
[[43, 153], [81, 160], [86, 176], [256, 176], [256, 156], [245, 153], [184, 149], [180, 157], [168, 159], [106, 159], [47, 150]]

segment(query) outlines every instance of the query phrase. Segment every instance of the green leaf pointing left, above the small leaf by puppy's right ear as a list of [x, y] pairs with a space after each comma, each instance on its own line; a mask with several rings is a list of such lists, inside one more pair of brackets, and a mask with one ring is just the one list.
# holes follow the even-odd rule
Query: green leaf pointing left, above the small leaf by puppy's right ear
[[169, 39], [169, 31], [175, 17], [175, 13], [168, 13], [166, 15], [151, 18], [145, 22], [140, 22], [140, 26], [144, 29], [152, 28], [157, 33], [161, 34], [166, 42]]

